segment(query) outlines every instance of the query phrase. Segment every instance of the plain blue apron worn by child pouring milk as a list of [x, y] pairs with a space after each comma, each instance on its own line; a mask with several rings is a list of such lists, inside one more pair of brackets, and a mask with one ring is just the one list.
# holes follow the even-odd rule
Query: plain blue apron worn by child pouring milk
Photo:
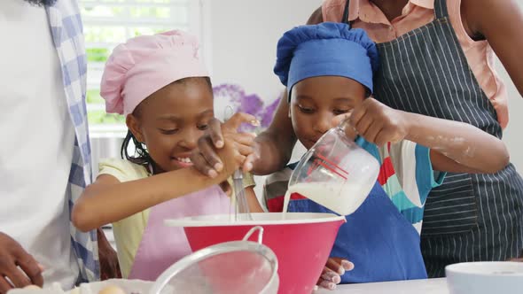
[[[309, 199], [295, 199], [289, 212], [332, 213]], [[382, 282], [426, 278], [419, 235], [376, 182], [355, 213], [346, 216], [331, 257], [350, 260], [341, 282]], [[307, 258], [307, 257], [304, 257]]]

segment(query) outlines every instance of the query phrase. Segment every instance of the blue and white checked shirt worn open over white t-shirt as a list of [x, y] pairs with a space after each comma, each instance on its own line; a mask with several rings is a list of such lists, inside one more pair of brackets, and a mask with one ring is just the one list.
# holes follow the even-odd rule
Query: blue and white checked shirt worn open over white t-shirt
[[[69, 174], [66, 196], [69, 213], [83, 189], [91, 182], [90, 143], [85, 105], [87, 57], [84, 48], [80, 8], [75, 0], [59, 0], [46, 8], [51, 35], [58, 52], [64, 89], [71, 120], [74, 123], [73, 163]], [[70, 214], [69, 214], [70, 216]], [[82, 233], [71, 226], [71, 245], [80, 266], [80, 281], [99, 278], [97, 232]]]

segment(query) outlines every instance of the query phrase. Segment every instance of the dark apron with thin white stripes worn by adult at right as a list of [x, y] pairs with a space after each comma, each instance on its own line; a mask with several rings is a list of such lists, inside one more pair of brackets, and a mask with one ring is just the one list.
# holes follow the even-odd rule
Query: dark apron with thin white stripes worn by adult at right
[[[457, 41], [447, 0], [433, 22], [379, 43], [374, 97], [406, 112], [464, 121], [502, 137], [496, 111]], [[348, 16], [348, 1], [343, 19]], [[505, 260], [523, 248], [523, 180], [512, 165], [496, 174], [449, 174], [425, 204], [421, 235], [429, 277], [451, 263]]]

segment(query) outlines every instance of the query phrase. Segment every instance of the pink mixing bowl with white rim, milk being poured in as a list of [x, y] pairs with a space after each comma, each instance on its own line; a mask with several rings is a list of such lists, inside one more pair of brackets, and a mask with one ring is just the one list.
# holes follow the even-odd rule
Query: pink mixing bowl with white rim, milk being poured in
[[[192, 251], [241, 240], [250, 228], [262, 226], [262, 243], [276, 253], [278, 293], [310, 293], [329, 258], [343, 216], [331, 213], [252, 213], [254, 221], [231, 221], [230, 215], [205, 215], [168, 220], [183, 227]], [[255, 241], [255, 237], [251, 238]]]

